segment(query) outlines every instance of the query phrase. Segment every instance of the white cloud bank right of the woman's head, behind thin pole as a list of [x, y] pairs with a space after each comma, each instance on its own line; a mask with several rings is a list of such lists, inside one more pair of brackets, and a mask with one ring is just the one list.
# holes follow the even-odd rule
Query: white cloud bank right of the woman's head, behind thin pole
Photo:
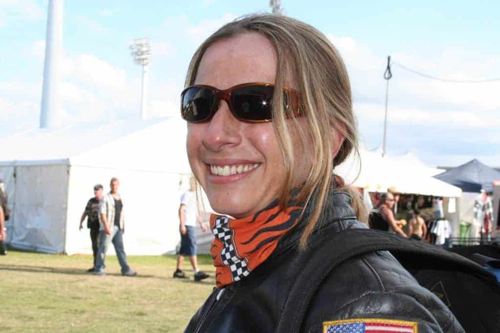
[[[352, 37], [328, 35], [346, 64], [359, 119], [368, 146], [382, 141], [386, 55]], [[422, 53], [427, 50], [422, 50]], [[500, 54], [443, 47], [435, 54], [393, 52], [391, 60], [428, 75], [449, 79], [487, 79], [498, 76]], [[495, 74], [496, 73], [496, 74]], [[414, 150], [430, 164], [457, 165], [476, 156], [499, 165], [500, 82], [447, 83], [430, 80], [392, 65], [388, 95], [388, 150]], [[397, 139], [396, 139], [397, 138]], [[433, 142], [433, 143], [431, 143]], [[429, 147], [429, 144], [432, 147]], [[496, 158], [496, 159], [495, 159]]]

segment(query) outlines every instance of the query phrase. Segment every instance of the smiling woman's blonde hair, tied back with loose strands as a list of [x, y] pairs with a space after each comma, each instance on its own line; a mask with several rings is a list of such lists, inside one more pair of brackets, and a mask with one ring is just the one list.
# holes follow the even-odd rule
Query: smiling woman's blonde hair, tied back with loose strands
[[[310, 151], [314, 161], [303, 187], [294, 198], [303, 202], [304, 208], [309, 204], [314, 207], [300, 239], [300, 245], [303, 247], [312, 230], [323, 221], [322, 212], [333, 190], [331, 184], [334, 166], [341, 163], [352, 150], [358, 153], [357, 123], [352, 111], [349, 78], [338, 51], [328, 38], [314, 27], [282, 15], [252, 14], [223, 25], [198, 47], [189, 63], [185, 86], [194, 83], [201, 58], [209, 46], [248, 32], [264, 36], [276, 54], [272, 123], [286, 170], [279, 196], [281, 207], [286, 207], [290, 200], [292, 175], [296, 167], [295, 149]], [[300, 91], [300, 107], [304, 114], [303, 119], [308, 125], [308, 133], [298, 126], [295, 117], [289, 119], [292, 121], [285, 121], [283, 94], [276, 93], [282, 91], [285, 77], [291, 69], [296, 81], [295, 88]], [[296, 128], [301, 138], [300, 147], [293, 145], [290, 125]], [[336, 155], [333, 154], [332, 128], [344, 137]], [[364, 206], [359, 203], [359, 195], [349, 186], [335, 190], [344, 190], [351, 194], [351, 204], [358, 208], [358, 219], [362, 220], [365, 214], [361, 212]]]

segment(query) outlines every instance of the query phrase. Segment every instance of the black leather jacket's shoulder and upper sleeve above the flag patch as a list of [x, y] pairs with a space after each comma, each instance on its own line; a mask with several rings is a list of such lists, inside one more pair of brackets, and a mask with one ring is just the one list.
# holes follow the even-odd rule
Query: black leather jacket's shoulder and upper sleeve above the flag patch
[[346, 319], [414, 323], [418, 332], [463, 332], [450, 310], [387, 251], [346, 260], [317, 289], [303, 331]]

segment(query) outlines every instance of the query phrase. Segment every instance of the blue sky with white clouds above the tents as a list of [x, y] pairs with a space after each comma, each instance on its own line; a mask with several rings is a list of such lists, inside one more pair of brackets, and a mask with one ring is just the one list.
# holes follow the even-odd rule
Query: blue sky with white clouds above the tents
[[[282, 0], [285, 14], [325, 33], [346, 62], [369, 148], [381, 144], [385, 58], [452, 79], [500, 77], [499, 1]], [[41, 98], [46, 0], [0, 0], [0, 135], [36, 128]], [[239, 15], [268, 11], [267, 0], [66, 0], [60, 122], [137, 117], [140, 67], [128, 53], [152, 42], [149, 108], [178, 115], [178, 94], [196, 46]], [[496, 17], [495, 17], [496, 16]], [[393, 66], [387, 148], [430, 165], [478, 157], [500, 166], [500, 81], [442, 83]]]

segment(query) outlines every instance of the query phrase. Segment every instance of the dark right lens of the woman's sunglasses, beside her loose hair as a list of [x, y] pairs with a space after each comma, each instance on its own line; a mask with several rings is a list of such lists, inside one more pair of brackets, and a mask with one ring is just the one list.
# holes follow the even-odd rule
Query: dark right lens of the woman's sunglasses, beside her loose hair
[[231, 103], [236, 115], [244, 120], [272, 119], [272, 92], [274, 87], [249, 85], [231, 93]]

